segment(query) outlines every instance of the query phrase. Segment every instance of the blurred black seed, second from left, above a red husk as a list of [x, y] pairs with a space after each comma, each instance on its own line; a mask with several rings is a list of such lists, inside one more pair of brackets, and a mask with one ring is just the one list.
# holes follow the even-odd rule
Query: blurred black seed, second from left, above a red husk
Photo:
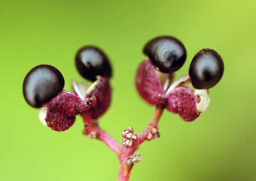
[[97, 47], [82, 47], [76, 55], [76, 65], [79, 73], [90, 81], [95, 81], [97, 75], [111, 77], [111, 65], [105, 53]]

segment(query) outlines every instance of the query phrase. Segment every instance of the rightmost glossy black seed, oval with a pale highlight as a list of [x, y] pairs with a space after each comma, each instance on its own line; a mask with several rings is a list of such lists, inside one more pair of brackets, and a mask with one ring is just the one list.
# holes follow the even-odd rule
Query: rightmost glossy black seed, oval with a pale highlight
[[197, 89], [208, 89], [216, 85], [224, 71], [221, 56], [212, 49], [200, 50], [191, 61], [189, 77], [192, 85]]

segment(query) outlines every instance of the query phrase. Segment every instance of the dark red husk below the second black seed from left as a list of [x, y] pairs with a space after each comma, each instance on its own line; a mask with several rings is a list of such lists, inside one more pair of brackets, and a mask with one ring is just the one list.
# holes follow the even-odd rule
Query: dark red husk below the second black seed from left
[[111, 101], [111, 88], [109, 85], [109, 79], [107, 77], [101, 77], [96, 80], [97, 84], [94, 86], [90, 93], [87, 93], [85, 98], [96, 97], [97, 103], [94, 108], [91, 109], [92, 119], [100, 117], [108, 109]]

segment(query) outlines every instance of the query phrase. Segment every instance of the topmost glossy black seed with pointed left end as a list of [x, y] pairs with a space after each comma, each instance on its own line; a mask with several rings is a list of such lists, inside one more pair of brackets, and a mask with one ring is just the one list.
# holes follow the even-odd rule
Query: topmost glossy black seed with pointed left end
[[165, 73], [178, 70], [185, 62], [186, 49], [176, 38], [162, 36], [150, 40], [143, 49], [150, 61]]

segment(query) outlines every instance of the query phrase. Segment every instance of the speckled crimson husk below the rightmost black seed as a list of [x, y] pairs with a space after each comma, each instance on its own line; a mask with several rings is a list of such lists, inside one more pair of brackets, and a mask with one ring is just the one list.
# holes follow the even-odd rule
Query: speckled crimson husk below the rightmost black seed
[[178, 113], [185, 121], [194, 121], [200, 116], [197, 111], [195, 95], [184, 87], [172, 89], [164, 96], [167, 100], [166, 109], [173, 113]]

